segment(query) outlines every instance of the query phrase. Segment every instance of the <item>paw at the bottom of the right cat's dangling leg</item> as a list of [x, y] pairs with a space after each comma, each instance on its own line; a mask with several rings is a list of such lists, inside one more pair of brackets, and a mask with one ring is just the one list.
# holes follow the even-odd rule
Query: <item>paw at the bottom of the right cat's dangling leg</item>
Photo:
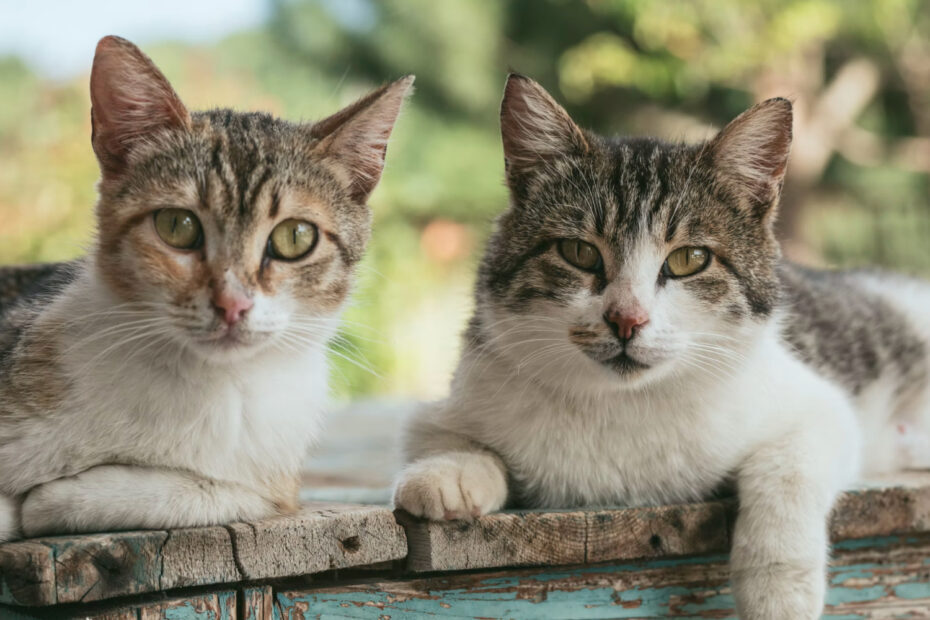
[[786, 564], [732, 571], [736, 609], [747, 620], [816, 620], [823, 613], [823, 567]]

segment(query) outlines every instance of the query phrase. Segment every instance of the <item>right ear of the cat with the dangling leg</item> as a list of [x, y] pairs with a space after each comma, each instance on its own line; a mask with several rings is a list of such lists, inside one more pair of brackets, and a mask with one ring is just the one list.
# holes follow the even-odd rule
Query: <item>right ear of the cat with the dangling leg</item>
[[724, 183], [767, 214], [774, 209], [791, 150], [791, 102], [763, 101], [737, 116], [710, 143]]

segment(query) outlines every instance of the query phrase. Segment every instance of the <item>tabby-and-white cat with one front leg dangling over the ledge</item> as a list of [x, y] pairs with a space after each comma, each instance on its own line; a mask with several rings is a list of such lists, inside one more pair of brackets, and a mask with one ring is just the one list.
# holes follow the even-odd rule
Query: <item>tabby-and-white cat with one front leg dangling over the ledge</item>
[[669, 144], [583, 130], [513, 75], [501, 133], [510, 206], [395, 505], [472, 519], [735, 483], [740, 617], [819, 617], [838, 492], [930, 465], [930, 286], [781, 259], [785, 99]]

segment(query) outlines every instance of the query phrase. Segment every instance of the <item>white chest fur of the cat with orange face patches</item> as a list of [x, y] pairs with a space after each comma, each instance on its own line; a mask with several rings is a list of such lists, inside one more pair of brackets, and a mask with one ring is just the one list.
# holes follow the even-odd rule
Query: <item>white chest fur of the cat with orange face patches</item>
[[276, 353], [230, 367], [153, 359], [112, 369], [111, 380], [75, 395], [80, 411], [98, 413], [74, 445], [89, 458], [220, 480], [292, 473], [320, 424], [325, 357]]

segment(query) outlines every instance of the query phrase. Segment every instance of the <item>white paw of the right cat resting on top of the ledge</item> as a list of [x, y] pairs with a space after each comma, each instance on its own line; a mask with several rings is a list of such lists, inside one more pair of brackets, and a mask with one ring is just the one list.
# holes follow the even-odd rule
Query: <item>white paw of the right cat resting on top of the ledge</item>
[[450, 452], [409, 465], [394, 491], [394, 505], [434, 521], [470, 520], [499, 510], [507, 480], [487, 454]]

